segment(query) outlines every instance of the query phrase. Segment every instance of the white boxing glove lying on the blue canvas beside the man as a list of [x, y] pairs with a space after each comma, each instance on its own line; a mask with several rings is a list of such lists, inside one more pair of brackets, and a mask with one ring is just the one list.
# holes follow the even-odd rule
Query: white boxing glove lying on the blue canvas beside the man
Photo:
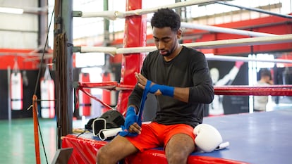
[[193, 132], [196, 135], [195, 144], [199, 148], [199, 151], [214, 151], [222, 143], [221, 134], [212, 125], [197, 125]]

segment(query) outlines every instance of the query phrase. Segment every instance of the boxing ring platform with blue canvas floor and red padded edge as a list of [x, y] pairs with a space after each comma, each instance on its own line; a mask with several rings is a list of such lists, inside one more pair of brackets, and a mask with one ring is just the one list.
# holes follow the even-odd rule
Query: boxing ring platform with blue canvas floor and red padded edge
[[[244, 113], [204, 118], [204, 123], [219, 130], [227, 149], [211, 153], [192, 153], [190, 163], [290, 163], [292, 156], [292, 110]], [[107, 141], [92, 133], [68, 134], [62, 147], [73, 147], [69, 163], [95, 163], [98, 149]], [[78, 136], [78, 137], [77, 137]], [[125, 163], [167, 163], [162, 148], [150, 149], [125, 159]]]

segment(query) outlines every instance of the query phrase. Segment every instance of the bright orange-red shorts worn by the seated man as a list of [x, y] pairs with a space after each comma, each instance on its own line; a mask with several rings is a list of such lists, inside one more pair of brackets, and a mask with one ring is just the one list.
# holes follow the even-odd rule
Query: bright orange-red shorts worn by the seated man
[[126, 137], [137, 149], [144, 151], [156, 147], [164, 147], [174, 134], [187, 134], [195, 144], [194, 128], [190, 125], [162, 125], [157, 122], [142, 124], [142, 132], [136, 137]]

